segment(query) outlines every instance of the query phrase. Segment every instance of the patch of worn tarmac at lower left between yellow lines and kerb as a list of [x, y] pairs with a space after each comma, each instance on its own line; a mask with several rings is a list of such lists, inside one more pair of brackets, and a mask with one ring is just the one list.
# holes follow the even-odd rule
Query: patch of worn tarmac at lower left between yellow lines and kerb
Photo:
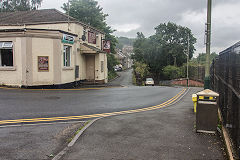
[[85, 123], [0, 127], [0, 160], [52, 159]]

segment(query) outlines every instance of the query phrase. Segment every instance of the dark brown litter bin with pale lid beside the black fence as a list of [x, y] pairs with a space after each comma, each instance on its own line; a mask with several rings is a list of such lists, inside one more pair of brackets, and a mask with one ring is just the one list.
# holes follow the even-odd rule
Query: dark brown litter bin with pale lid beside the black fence
[[219, 94], [206, 89], [197, 95], [196, 131], [216, 133], [218, 124]]

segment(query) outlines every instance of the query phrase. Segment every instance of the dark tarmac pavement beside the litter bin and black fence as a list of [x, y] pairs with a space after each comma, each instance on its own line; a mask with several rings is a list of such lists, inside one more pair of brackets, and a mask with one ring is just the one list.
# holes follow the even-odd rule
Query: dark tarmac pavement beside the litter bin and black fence
[[226, 159], [217, 135], [195, 132], [191, 88], [176, 104], [153, 111], [107, 117], [92, 124], [63, 160]]

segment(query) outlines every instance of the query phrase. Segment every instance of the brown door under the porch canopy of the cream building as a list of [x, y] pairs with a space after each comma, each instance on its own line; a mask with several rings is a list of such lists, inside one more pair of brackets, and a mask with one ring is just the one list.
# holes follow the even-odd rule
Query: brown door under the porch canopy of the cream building
[[87, 70], [87, 80], [95, 80], [95, 56], [87, 55], [86, 56], [86, 70]]

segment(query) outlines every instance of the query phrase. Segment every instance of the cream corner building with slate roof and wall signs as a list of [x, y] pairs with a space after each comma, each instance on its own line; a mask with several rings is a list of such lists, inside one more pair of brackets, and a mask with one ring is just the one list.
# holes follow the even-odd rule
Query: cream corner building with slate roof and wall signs
[[0, 14], [0, 85], [107, 82], [104, 33], [56, 9]]

